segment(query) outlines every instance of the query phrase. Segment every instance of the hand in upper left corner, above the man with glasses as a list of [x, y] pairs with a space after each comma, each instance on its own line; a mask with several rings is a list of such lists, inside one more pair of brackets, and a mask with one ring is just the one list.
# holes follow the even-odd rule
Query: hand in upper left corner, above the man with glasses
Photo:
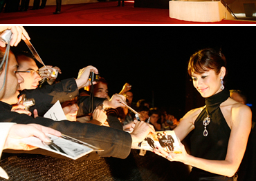
[[[17, 46], [21, 39], [25, 40], [27, 38], [28, 40], [30, 40], [28, 32], [26, 32], [26, 30], [22, 26], [0, 26], [0, 32], [3, 32], [5, 30], [11, 30], [12, 32], [12, 38], [10, 40], [11, 46]], [[0, 41], [0, 46], [6, 47], [6, 43]]]

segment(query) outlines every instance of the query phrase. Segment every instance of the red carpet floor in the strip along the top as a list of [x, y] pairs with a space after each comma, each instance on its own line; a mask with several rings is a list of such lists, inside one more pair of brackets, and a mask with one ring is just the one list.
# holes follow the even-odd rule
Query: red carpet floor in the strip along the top
[[134, 8], [133, 2], [117, 7], [117, 1], [62, 5], [61, 14], [53, 14], [55, 6], [27, 12], [0, 13], [1, 24], [256, 24], [256, 21], [222, 20], [214, 23], [180, 21], [169, 17], [168, 9]]

